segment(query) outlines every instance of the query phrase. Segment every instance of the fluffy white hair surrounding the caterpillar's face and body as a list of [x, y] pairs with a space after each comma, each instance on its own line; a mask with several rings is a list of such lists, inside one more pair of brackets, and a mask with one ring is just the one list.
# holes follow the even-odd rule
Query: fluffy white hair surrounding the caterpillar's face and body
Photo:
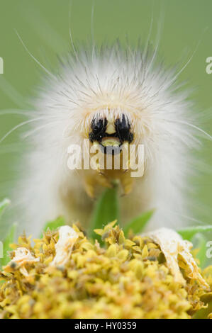
[[69, 53], [57, 74], [48, 73], [33, 101], [27, 134], [32, 148], [21, 162], [24, 179], [18, 195], [26, 216], [20, 220], [27, 232], [38, 234], [46, 221], [60, 215], [67, 222], [89, 220], [94, 201], [84, 184], [89, 177], [97, 184], [101, 176], [69, 170], [67, 147], [82, 145], [92, 119], [108, 115], [126, 115], [133, 143], [145, 147], [145, 173], [134, 180], [131, 193], [120, 198], [121, 220], [155, 208], [148, 229], [184, 224], [189, 150], [198, 142], [189, 125], [194, 114], [177, 85], [179, 72], [165, 69], [155, 58], [149, 47], [85, 47]]

